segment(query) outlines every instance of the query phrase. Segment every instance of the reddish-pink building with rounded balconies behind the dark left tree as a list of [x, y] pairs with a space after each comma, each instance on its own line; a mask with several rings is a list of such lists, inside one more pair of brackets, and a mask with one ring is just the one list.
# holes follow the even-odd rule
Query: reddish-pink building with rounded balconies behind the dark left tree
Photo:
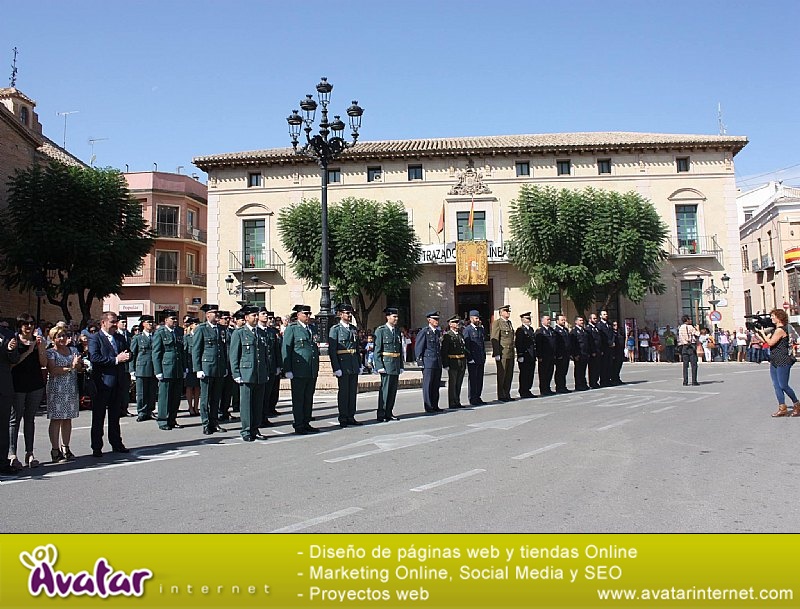
[[139, 271], [123, 280], [119, 294], [105, 299], [103, 310], [128, 317], [128, 327], [143, 314], [157, 321], [165, 310], [198, 314], [206, 295], [207, 189], [176, 173], [126, 173], [131, 195], [156, 233], [152, 251]]

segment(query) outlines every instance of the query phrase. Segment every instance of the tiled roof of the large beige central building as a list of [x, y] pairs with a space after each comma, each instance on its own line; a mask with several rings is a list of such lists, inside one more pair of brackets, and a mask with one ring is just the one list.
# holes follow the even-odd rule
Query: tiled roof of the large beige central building
[[[354, 148], [345, 152], [342, 159], [709, 147], [729, 149], [736, 154], [746, 145], [746, 137], [734, 135], [684, 135], [622, 131], [542, 133], [359, 142]], [[225, 165], [297, 162], [299, 160], [291, 148], [272, 148], [199, 156], [195, 157], [194, 164], [201, 169], [206, 169]]]

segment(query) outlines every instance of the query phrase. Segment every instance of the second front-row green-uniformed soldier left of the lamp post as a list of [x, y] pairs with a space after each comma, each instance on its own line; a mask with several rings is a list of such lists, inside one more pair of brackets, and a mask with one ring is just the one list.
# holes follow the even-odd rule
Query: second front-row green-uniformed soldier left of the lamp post
[[258, 307], [244, 307], [244, 325], [231, 336], [231, 374], [239, 388], [242, 440], [266, 440], [258, 430], [270, 369], [267, 334], [258, 327]]

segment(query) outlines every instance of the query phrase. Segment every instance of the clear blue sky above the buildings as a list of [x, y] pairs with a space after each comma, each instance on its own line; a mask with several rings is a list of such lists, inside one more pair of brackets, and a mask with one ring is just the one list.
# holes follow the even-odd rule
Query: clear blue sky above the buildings
[[[192, 157], [289, 145], [320, 76], [362, 138], [562, 131], [714, 134], [740, 186], [800, 183], [800, 2], [0, 0], [0, 86], [89, 162], [202, 172]], [[99, 139], [107, 138], [107, 139]]]

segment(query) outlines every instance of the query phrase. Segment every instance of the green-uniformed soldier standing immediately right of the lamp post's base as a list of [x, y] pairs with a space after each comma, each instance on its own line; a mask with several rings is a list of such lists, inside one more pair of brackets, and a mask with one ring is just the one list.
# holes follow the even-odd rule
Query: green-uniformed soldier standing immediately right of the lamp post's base
[[350, 323], [353, 306], [339, 305], [339, 323], [328, 333], [328, 353], [333, 374], [339, 381], [339, 425], [361, 425], [356, 421], [356, 395], [358, 394], [358, 329]]

